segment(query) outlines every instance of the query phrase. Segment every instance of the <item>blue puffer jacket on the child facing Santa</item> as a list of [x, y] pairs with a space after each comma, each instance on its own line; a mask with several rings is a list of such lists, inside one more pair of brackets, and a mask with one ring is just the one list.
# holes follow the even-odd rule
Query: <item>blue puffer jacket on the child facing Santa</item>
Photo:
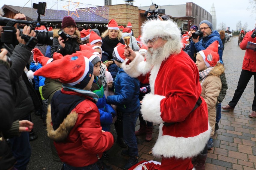
[[114, 93], [107, 97], [108, 104], [116, 104], [120, 112], [134, 112], [140, 107], [139, 103], [140, 82], [131, 78], [122, 68], [117, 72], [114, 82]]

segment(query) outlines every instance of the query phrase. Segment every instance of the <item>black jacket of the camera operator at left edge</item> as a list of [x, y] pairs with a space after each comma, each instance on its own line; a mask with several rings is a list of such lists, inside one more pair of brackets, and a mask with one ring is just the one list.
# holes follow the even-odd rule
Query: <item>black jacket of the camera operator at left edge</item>
[[[9, 69], [9, 75], [14, 94], [14, 121], [24, 118], [32, 113], [35, 107], [40, 108], [40, 101], [31, 86], [24, 72], [24, 68], [28, 64], [31, 56], [31, 48], [19, 43], [14, 46], [11, 44], [2, 44], [2, 48], [8, 50], [8, 57], [12, 61]], [[34, 104], [36, 105], [34, 107]]]

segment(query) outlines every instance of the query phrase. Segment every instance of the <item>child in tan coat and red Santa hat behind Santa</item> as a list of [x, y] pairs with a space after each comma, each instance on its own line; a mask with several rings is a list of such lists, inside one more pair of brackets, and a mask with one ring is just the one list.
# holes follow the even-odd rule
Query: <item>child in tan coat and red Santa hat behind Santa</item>
[[206, 101], [208, 107], [208, 122], [212, 128], [211, 138], [206, 144], [204, 150], [199, 155], [197, 155], [197, 157], [192, 159], [192, 163], [196, 169], [205, 169], [207, 149], [212, 149], [212, 136], [215, 133], [215, 105], [221, 91], [220, 76], [224, 73], [225, 70], [223, 64], [218, 62], [218, 45], [218, 41], [213, 42], [205, 50], [199, 51], [196, 57], [196, 66], [199, 70], [199, 81], [202, 87], [201, 96]]

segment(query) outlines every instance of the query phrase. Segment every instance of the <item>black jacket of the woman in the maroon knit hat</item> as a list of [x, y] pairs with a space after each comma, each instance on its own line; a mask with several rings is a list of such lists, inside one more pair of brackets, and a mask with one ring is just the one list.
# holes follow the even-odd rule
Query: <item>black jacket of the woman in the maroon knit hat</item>
[[58, 41], [58, 31], [59, 29], [53, 30], [53, 45], [51, 47], [51, 58], [53, 57], [53, 53], [61, 53], [63, 56], [75, 53], [76, 51], [79, 51], [79, 45], [81, 44], [81, 38], [80, 38], [80, 32], [78, 30], [75, 31], [76, 38], [69, 38], [65, 42], [65, 48], [63, 48], [61, 45], [59, 45]]

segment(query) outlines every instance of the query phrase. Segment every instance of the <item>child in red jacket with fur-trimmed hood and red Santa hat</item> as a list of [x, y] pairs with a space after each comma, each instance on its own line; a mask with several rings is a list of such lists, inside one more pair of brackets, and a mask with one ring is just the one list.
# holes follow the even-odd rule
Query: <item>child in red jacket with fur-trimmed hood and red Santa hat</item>
[[89, 90], [93, 64], [82, 53], [75, 53], [48, 63], [34, 75], [62, 82], [48, 107], [47, 135], [54, 140], [64, 169], [98, 170], [96, 162], [112, 147], [114, 137], [102, 130], [98, 96]]

